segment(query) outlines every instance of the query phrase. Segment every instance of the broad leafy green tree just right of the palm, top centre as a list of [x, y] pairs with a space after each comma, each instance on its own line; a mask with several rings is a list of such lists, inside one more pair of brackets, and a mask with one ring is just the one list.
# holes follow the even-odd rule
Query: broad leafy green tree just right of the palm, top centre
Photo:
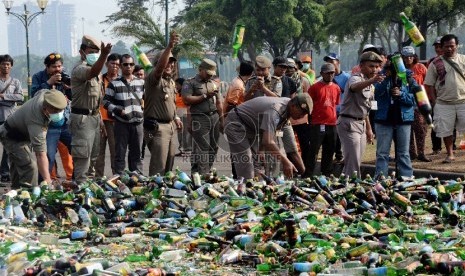
[[219, 53], [231, 51], [232, 30], [238, 23], [246, 26], [243, 49], [251, 59], [262, 51], [295, 55], [306, 47], [318, 48], [325, 38], [320, 32], [325, 9], [317, 1], [188, 0], [185, 4], [176, 24], [192, 28], [202, 43]]

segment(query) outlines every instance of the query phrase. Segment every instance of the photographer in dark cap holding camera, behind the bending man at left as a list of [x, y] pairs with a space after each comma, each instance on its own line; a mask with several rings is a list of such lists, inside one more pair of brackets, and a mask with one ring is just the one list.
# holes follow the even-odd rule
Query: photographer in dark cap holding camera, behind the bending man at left
[[[44, 59], [45, 69], [32, 76], [31, 96], [42, 89], [56, 89], [61, 91], [68, 99], [68, 105], [64, 110], [64, 116], [59, 121], [51, 121], [47, 130], [47, 157], [49, 172], [54, 178], [53, 167], [55, 155], [60, 152], [66, 179], [73, 176], [73, 161], [71, 157], [71, 133], [69, 131], [69, 114], [71, 99], [71, 78], [63, 71], [63, 56], [59, 53], [51, 53]], [[39, 179], [40, 181], [41, 179]]]

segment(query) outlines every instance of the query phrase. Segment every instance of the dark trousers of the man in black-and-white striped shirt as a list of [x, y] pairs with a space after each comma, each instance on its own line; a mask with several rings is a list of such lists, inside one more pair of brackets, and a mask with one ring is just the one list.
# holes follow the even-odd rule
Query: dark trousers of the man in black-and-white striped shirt
[[126, 150], [128, 153], [129, 171], [142, 172], [142, 139], [144, 127], [142, 123], [122, 123], [115, 121], [115, 173], [122, 174], [125, 168]]

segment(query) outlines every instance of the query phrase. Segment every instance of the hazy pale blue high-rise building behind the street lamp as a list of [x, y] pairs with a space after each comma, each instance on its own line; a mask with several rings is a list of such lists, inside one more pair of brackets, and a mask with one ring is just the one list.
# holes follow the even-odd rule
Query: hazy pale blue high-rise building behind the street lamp
[[[17, 3], [17, 2], [15, 2]], [[40, 11], [36, 2], [24, 2], [30, 13]], [[14, 6], [12, 12], [23, 14], [24, 4]], [[59, 52], [70, 56], [79, 53], [79, 35], [76, 26], [74, 4], [51, 1], [45, 14], [39, 15], [29, 26], [29, 47], [31, 55], [45, 56]], [[10, 15], [7, 17], [8, 53], [11, 56], [26, 54], [26, 30], [21, 22]]]

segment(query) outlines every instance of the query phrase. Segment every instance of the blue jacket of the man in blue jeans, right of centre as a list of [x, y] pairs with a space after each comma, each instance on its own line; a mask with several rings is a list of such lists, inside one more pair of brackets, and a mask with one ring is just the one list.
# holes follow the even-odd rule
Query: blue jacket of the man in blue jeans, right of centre
[[413, 122], [416, 103], [415, 95], [411, 92], [411, 87], [414, 85], [418, 84], [411, 79], [410, 86], [402, 85], [400, 89], [400, 96], [392, 98], [390, 93], [392, 87], [390, 77], [386, 77], [381, 83], [375, 84], [375, 100], [378, 103], [378, 110], [376, 110], [375, 113], [375, 121], [390, 121], [390, 118], [388, 118], [388, 112], [391, 100], [393, 100], [395, 105], [400, 106], [402, 122]]

